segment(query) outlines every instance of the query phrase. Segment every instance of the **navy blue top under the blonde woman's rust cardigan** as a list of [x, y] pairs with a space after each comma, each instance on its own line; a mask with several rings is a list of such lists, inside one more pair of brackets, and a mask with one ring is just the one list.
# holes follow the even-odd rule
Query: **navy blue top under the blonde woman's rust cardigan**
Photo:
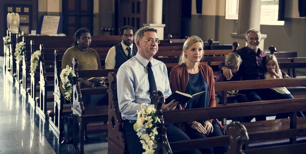
[[[209, 107], [208, 83], [206, 82], [206, 80], [204, 79], [204, 77], [200, 72], [197, 74], [189, 73], [189, 81], [185, 93], [193, 95], [201, 91], [206, 91], [206, 92], [203, 93], [198, 100], [188, 102], [186, 109]], [[203, 125], [204, 120], [198, 120], [198, 122], [200, 122]]]

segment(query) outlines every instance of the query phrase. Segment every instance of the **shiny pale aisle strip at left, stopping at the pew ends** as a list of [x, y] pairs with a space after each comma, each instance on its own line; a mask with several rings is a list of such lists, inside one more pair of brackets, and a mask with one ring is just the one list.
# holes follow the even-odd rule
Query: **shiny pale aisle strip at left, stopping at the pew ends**
[[40, 131], [43, 125], [35, 125], [35, 112], [27, 113], [29, 103], [3, 73], [0, 88], [0, 153], [55, 153]]

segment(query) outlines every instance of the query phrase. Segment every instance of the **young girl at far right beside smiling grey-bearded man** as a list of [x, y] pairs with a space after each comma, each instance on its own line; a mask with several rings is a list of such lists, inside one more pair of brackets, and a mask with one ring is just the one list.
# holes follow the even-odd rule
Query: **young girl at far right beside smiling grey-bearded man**
[[[266, 73], [265, 73], [265, 79], [282, 79], [282, 72], [281, 69], [278, 67], [277, 59], [274, 54], [267, 55], [265, 57], [265, 63], [266, 63]], [[271, 88], [272, 95], [277, 96], [275, 98], [278, 99], [294, 99], [294, 97], [291, 95], [290, 91], [286, 87], [276, 87]], [[281, 118], [288, 118], [289, 113], [278, 113], [276, 114], [275, 119], [281, 119]], [[297, 116], [301, 117], [304, 116], [302, 112], [297, 112]]]

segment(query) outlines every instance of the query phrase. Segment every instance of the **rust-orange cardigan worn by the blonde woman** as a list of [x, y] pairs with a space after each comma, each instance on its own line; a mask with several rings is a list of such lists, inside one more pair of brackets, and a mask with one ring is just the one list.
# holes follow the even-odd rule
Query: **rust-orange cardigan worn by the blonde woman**
[[[215, 79], [214, 79], [214, 72], [211, 67], [206, 64], [199, 64], [199, 71], [201, 72], [202, 76], [208, 83], [209, 88], [209, 107], [216, 107], [216, 98], [215, 98]], [[186, 87], [189, 81], [189, 75], [187, 71], [186, 64], [182, 64], [176, 66], [171, 69], [170, 72], [170, 88], [172, 93], [176, 90], [185, 93]], [[216, 119], [218, 121], [218, 119]], [[213, 120], [210, 119], [210, 122]], [[193, 121], [192, 121], [193, 122]], [[188, 122], [192, 125], [192, 122]], [[221, 130], [223, 129], [221, 123], [218, 121]]]

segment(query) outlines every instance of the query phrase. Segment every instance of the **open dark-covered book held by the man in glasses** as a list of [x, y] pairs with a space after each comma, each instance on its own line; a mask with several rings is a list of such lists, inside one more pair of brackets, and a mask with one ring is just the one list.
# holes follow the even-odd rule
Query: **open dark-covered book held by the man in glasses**
[[175, 100], [179, 102], [179, 104], [184, 105], [187, 102], [194, 101], [196, 99], [199, 99], [199, 97], [205, 93], [205, 91], [201, 91], [199, 93], [193, 94], [192, 96], [186, 93], [182, 93], [180, 91], [175, 91], [173, 94], [171, 94], [166, 100], [165, 103], [168, 104], [172, 100]]

